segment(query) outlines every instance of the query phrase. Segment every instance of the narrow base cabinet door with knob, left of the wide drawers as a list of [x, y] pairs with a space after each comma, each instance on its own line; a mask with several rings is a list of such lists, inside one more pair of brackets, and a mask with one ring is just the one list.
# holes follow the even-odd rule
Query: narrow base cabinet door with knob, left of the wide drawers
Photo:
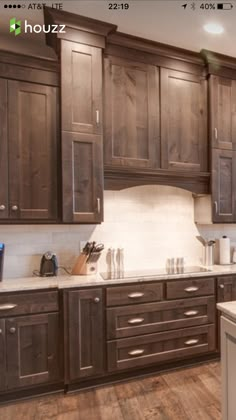
[[101, 289], [65, 292], [67, 382], [99, 375], [104, 369]]

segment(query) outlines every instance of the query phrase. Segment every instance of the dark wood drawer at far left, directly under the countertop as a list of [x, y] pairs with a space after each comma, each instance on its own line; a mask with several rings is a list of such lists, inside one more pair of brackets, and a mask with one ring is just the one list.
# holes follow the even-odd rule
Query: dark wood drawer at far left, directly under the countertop
[[0, 294], [0, 317], [58, 311], [58, 292]]

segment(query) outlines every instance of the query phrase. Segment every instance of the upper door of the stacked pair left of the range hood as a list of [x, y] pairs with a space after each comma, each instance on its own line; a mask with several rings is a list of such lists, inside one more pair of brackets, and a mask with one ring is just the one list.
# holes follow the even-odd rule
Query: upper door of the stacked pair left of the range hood
[[102, 127], [101, 49], [61, 42], [62, 130], [100, 134]]

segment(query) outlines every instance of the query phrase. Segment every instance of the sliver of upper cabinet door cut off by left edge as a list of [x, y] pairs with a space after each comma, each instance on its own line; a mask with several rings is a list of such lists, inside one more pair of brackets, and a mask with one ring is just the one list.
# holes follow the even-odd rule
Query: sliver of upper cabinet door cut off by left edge
[[0, 219], [8, 217], [7, 81], [0, 79]]

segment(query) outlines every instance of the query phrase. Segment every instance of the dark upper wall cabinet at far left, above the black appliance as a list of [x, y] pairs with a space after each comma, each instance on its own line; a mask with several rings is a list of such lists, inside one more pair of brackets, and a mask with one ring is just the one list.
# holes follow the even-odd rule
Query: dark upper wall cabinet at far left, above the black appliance
[[22, 67], [21, 58], [12, 54], [0, 57], [0, 219], [54, 222], [58, 216], [55, 62], [25, 57], [24, 63]]

